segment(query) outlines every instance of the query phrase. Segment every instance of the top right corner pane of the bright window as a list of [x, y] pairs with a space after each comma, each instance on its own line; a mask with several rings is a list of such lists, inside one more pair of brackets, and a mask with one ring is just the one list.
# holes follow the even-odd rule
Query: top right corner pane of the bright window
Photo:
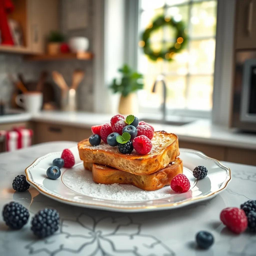
[[215, 36], [216, 1], [195, 3], [191, 10], [191, 37]]

